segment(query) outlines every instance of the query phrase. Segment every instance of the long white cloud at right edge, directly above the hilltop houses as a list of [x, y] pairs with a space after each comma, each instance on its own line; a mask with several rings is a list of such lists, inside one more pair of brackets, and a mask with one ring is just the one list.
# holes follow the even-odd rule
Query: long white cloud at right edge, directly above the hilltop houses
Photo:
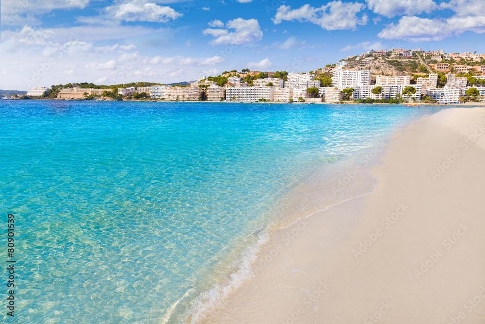
[[485, 16], [453, 16], [447, 19], [404, 16], [397, 24], [389, 24], [377, 36], [385, 39], [436, 41], [466, 31], [485, 33]]

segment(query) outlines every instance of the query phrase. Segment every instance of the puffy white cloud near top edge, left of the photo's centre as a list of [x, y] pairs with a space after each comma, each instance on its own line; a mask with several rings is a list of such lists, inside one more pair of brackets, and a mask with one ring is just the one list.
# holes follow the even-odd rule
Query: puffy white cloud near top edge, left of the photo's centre
[[[108, 11], [113, 7], [107, 8]], [[159, 6], [155, 3], [147, 3], [146, 0], [132, 0], [121, 4], [114, 15], [115, 18], [125, 21], [149, 21], [167, 22], [183, 16], [170, 7]]]

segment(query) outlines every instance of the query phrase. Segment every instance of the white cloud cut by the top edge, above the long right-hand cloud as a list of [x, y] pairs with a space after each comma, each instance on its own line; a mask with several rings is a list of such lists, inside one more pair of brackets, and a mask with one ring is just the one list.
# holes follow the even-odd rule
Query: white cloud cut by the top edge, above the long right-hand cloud
[[374, 13], [388, 18], [402, 15], [430, 13], [438, 9], [433, 0], [366, 0], [367, 6]]

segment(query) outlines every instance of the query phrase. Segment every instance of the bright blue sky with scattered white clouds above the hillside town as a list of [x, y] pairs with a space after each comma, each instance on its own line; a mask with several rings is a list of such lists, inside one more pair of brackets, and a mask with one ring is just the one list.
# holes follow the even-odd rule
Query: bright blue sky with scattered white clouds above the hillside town
[[371, 49], [485, 52], [484, 0], [2, 0], [0, 88], [310, 71]]

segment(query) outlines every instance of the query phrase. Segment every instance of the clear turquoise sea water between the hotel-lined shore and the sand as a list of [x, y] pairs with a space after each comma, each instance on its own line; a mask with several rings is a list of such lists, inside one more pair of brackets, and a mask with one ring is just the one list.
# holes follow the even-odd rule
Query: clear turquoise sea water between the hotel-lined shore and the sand
[[2, 101], [16, 320], [187, 322], [250, 275], [292, 188], [439, 109]]

